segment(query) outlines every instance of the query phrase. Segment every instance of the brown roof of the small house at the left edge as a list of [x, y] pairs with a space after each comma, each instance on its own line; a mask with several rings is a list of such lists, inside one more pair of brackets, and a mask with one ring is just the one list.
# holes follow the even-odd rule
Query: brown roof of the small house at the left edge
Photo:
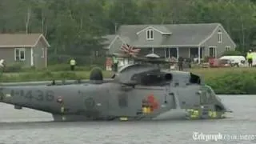
[[40, 39], [46, 42], [46, 46], [50, 47], [42, 34], [0, 34], [0, 48], [34, 47]]

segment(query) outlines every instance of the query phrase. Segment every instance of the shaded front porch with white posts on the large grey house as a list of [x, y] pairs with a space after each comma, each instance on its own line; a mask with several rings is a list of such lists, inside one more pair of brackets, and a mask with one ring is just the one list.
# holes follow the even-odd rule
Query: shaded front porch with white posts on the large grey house
[[158, 54], [160, 58], [198, 58], [198, 63], [205, 54], [204, 47], [141, 48], [140, 55]]

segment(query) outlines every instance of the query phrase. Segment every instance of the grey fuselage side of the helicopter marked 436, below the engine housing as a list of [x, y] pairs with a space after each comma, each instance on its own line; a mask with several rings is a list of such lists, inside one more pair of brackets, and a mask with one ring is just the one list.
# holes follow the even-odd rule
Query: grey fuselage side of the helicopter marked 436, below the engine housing
[[[49, 112], [54, 115], [55, 120], [62, 115], [70, 115], [70, 121], [122, 117], [156, 118], [172, 109], [201, 106], [201, 96], [198, 94], [201, 86], [170, 86], [133, 87], [114, 82], [64, 86], [10, 86], [2, 89], [1, 102]], [[142, 114], [142, 100], [150, 95], [154, 95], [158, 101], [158, 110], [151, 114]], [[62, 98], [63, 102], [59, 103], [58, 98]], [[222, 106], [217, 99], [215, 101]]]

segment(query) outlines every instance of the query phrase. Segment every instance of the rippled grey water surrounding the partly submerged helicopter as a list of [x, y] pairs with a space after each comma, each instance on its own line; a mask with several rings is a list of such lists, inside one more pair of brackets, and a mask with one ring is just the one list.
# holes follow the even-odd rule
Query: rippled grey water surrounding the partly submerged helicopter
[[[255, 143], [252, 138], [194, 140], [193, 133], [256, 134], [256, 96], [220, 96], [234, 110], [218, 120], [158, 122], [50, 122], [50, 114], [0, 105], [0, 144]], [[209, 135], [208, 135], [209, 136]], [[233, 136], [234, 137], [234, 136]], [[217, 138], [217, 137], [216, 137]], [[219, 137], [220, 138], [220, 137]], [[213, 138], [211, 138], [213, 139]], [[255, 137], [256, 139], [256, 137]]]

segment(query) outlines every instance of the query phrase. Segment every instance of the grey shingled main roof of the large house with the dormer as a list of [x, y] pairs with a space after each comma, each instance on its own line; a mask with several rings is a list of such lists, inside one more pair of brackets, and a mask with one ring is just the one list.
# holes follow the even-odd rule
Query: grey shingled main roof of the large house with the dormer
[[222, 25], [220, 23], [123, 25], [119, 27], [117, 34], [130, 45], [147, 46], [146, 41], [139, 41], [137, 34], [153, 28], [161, 34], [168, 34], [162, 38], [162, 41], [154, 41], [153, 46], [199, 46], [210, 38], [218, 26]]

